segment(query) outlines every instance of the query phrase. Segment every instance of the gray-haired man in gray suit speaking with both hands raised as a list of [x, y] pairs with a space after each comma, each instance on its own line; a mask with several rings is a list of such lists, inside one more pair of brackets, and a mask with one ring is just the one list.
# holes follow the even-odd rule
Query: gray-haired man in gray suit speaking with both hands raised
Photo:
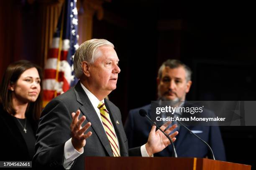
[[[82, 43], [74, 55], [74, 72], [80, 81], [44, 108], [33, 167], [83, 170], [84, 156], [152, 156], [170, 144], [153, 126], [145, 145], [128, 150], [120, 110], [105, 99], [116, 88], [118, 61], [111, 42], [92, 39]], [[176, 127], [165, 132], [170, 134]], [[169, 135], [172, 141], [177, 134]]]

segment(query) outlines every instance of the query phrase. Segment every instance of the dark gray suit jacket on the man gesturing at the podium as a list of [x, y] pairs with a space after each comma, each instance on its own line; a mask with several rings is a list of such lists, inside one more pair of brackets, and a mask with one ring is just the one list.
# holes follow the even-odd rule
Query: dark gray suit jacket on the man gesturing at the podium
[[[105, 105], [110, 112], [110, 118], [118, 137], [121, 156], [128, 156], [128, 141], [123, 129], [120, 110], [106, 99]], [[77, 109], [81, 110], [79, 118], [82, 115], [86, 116], [82, 126], [88, 121], [92, 123], [87, 130], [87, 132], [92, 131], [92, 135], [86, 139], [84, 153], [75, 160], [72, 170], [84, 169], [84, 156], [113, 156], [100, 119], [78, 82], [74, 88], [51, 100], [42, 112], [36, 134], [36, 155], [33, 158], [33, 165], [37, 168], [63, 168], [64, 144], [71, 138], [71, 113], [76, 112]], [[115, 123], [116, 120], [119, 124]], [[141, 155], [139, 147], [129, 150], [129, 153]]]

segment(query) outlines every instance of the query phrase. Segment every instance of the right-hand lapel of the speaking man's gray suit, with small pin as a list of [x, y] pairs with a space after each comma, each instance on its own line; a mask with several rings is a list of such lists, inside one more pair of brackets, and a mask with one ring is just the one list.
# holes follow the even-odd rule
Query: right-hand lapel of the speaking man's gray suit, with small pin
[[115, 133], [117, 135], [118, 142], [119, 142], [120, 154], [121, 156], [126, 156], [128, 155], [128, 152], [127, 152], [127, 148], [125, 147], [125, 141], [123, 138], [124, 132], [123, 132], [122, 120], [118, 119], [116, 111], [112, 107], [109, 107], [107, 100], [105, 100], [105, 105], [107, 107], [107, 110], [110, 113], [110, 119], [115, 128]]

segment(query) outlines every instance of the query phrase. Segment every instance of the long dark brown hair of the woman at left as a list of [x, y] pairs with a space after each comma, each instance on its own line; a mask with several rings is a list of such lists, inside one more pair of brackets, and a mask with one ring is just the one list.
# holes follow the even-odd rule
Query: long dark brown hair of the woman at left
[[2, 84], [0, 85], [0, 102], [3, 104], [3, 109], [8, 112], [10, 115], [15, 115], [16, 110], [13, 108], [13, 102], [12, 102], [12, 91], [8, 89], [9, 85], [15, 84], [17, 80], [19, 79], [20, 75], [30, 69], [36, 67], [36, 70], [38, 71], [39, 77], [41, 79], [40, 86], [41, 91], [36, 99], [35, 102], [31, 102], [28, 104], [28, 107], [26, 109], [26, 115], [30, 114], [28, 116], [32, 116], [34, 120], [39, 120], [41, 110], [42, 110], [42, 93], [43, 93], [43, 86], [42, 86], [42, 80], [43, 80], [43, 74], [42, 69], [36, 64], [33, 64], [30, 61], [27, 60], [19, 60], [16, 62], [11, 63], [7, 69], [5, 70], [5, 73], [3, 75]]

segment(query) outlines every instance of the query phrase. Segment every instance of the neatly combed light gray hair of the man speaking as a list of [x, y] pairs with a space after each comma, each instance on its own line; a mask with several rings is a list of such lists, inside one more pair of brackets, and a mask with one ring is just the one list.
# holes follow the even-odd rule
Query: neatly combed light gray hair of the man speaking
[[114, 48], [114, 45], [108, 40], [92, 39], [83, 42], [74, 54], [74, 74], [77, 78], [83, 75], [82, 62], [86, 61], [93, 63], [100, 56], [98, 47], [109, 45]]

